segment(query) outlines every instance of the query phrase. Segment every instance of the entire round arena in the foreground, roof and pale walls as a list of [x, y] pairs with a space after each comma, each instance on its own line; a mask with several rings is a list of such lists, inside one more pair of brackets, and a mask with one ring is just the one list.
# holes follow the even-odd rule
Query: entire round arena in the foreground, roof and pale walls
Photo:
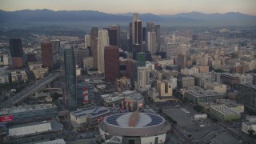
[[107, 143], [164, 143], [170, 133], [170, 123], [160, 115], [138, 111], [110, 115], [98, 127]]

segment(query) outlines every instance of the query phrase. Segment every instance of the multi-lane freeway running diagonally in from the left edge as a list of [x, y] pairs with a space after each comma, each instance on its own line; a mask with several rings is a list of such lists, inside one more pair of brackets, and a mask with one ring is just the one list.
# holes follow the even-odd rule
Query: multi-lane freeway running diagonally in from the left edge
[[58, 78], [59, 74], [49, 74], [45, 78], [42, 78], [35, 82], [31, 86], [27, 86], [24, 90], [15, 94], [14, 96], [8, 98], [5, 102], [0, 103], [0, 108], [6, 108], [14, 106], [16, 103], [21, 102], [23, 99], [28, 97], [30, 94], [34, 93], [40, 87], [45, 86], [46, 84], [52, 82], [55, 78]]

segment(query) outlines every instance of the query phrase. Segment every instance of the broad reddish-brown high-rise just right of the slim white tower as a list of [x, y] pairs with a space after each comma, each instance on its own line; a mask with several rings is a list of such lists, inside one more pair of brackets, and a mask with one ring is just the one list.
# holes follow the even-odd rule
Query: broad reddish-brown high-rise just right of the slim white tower
[[105, 46], [105, 81], [115, 82], [119, 78], [119, 48], [118, 46]]

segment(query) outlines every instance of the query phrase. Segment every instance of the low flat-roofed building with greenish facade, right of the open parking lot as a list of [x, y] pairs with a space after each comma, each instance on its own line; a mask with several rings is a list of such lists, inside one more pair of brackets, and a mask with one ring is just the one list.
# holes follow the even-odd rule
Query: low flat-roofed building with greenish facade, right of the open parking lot
[[224, 122], [239, 120], [241, 118], [241, 114], [238, 111], [232, 110], [226, 105], [210, 106], [209, 112], [214, 118], [218, 118]]

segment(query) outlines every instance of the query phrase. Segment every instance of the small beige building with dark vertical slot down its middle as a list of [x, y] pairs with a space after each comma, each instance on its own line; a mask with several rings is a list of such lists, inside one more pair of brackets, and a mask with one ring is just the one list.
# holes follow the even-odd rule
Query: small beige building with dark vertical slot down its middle
[[173, 95], [173, 89], [170, 82], [161, 82], [157, 83], [158, 91], [161, 97], [170, 97]]

